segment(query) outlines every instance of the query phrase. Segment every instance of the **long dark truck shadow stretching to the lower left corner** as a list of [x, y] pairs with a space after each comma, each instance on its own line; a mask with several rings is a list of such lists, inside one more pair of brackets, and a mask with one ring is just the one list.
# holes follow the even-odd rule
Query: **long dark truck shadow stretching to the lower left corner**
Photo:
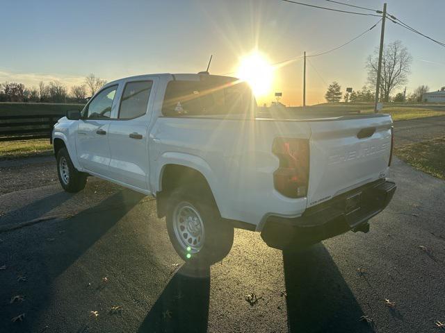
[[[52, 198], [52, 196], [50, 197]], [[67, 197], [60, 196], [55, 198], [64, 200]], [[3, 330], [0, 325], [0, 332], [43, 332], [47, 330], [47, 327], [41, 327], [40, 316], [54, 302], [54, 282], [79, 257], [86, 253], [91, 246], [101, 239], [113, 225], [118, 223], [122, 216], [137, 205], [142, 198], [141, 194], [133, 191], [119, 191], [103, 200], [99, 205], [76, 214], [71, 221], [59, 222], [59, 225], [63, 225], [62, 228], [65, 228], [65, 230], [63, 230], [63, 234], [58, 234], [57, 241], [63, 242], [63, 247], [59, 247], [58, 250], [54, 250], [54, 246], [47, 245], [39, 246], [37, 249], [26, 245], [14, 248], [14, 252], [9, 253], [10, 262], [16, 259], [17, 261], [25, 259], [28, 264], [26, 267], [21, 264], [17, 267], [11, 266], [10, 268], [11, 270], [21, 272], [22, 275], [31, 275], [23, 290], [27, 298], [33, 300], [33, 305], [29, 302], [24, 303], [26, 321], [20, 323], [22, 325], [16, 325], [8, 319], [8, 321], [2, 321], [2, 323], [6, 322], [6, 327]], [[45, 227], [42, 225], [42, 228], [51, 228], [51, 226]], [[46, 242], [48, 243], [48, 241]], [[33, 252], [29, 252], [30, 250]], [[40, 259], [33, 260], [33, 258]], [[15, 277], [13, 276], [13, 278]], [[13, 285], [13, 281], [0, 279], [0, 285], [3, 283], [4, 285]], [[8, 299], [9, 293], [10, 291], [7, 289], [0, 290], [1, 299]], [[3, 319], [17, 315], [15, 312], [17, 310], [14, 310], [13, 307], [4, 309], [5, 311], [0, 316]], [[49, 328], [49, 331], [54, 332], [54, 327]]]

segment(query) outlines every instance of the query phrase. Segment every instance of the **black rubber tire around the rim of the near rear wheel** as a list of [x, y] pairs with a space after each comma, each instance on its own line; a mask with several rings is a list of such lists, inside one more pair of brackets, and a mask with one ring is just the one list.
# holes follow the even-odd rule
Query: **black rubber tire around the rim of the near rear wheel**
[[[198, 270], [207, 269], [211, 264], [222, 260], [230, 252], [234, 242], [234, 228], [227, 221], [221, 219], [218, 207], [216, 207], [211, 194], [209, 196], [206, 195], [206, 192], [201, 192], [198, 196], [189, 192], [186, 189], [178, 189], [173, 191], [166, 199], [168, 200], [168, 209], [165, 220], [168, 236], [177, 254], [188, 263], [188, 267]], [[202, 248], [197, 253], [186, 249], [185, 240], [179, 239], [175, 232], [175, 214], [184, 205], [193, 207], [195, 212], [199, 214], [204, 226], [204, 241]], [[193, 244], [190, 245], [193, 246]]]

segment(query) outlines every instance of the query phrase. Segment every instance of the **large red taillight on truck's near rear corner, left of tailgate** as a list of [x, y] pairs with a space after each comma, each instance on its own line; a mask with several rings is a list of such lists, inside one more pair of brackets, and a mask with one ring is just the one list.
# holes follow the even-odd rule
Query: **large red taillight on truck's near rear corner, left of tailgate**
[[301, 198], [307, 195], [309, 182], [309, 140], [277, 137], [272, 152], [280, 160], [273, 173], [273, 185], [283, 196]]

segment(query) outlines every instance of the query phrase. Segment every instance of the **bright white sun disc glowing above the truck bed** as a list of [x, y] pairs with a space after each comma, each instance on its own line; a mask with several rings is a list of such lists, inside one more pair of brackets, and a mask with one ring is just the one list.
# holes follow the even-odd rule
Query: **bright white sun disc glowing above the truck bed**
[[241, 58], [236, 76], [250, 85], [255, 96], [264, 96], [272, 88], [273, 66], [265, 56], [254, 51]]

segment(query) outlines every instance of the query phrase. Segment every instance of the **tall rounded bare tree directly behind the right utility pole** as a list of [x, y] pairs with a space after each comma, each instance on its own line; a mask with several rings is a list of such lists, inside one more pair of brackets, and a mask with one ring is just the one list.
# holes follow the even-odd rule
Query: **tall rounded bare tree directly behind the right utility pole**
[[[412, 57], [400, 40], [383, 47], [380, 78], [382, 101], [388, 102], [391, 90], [407, 82], [408, 74], [411, 71], [411, 62]], [[366, 68], [368, 69], [368, 81], [375, 86], [377, 83], [378, 48], [375, 49], [373, 56], [369, 56], [366, 60]]]

